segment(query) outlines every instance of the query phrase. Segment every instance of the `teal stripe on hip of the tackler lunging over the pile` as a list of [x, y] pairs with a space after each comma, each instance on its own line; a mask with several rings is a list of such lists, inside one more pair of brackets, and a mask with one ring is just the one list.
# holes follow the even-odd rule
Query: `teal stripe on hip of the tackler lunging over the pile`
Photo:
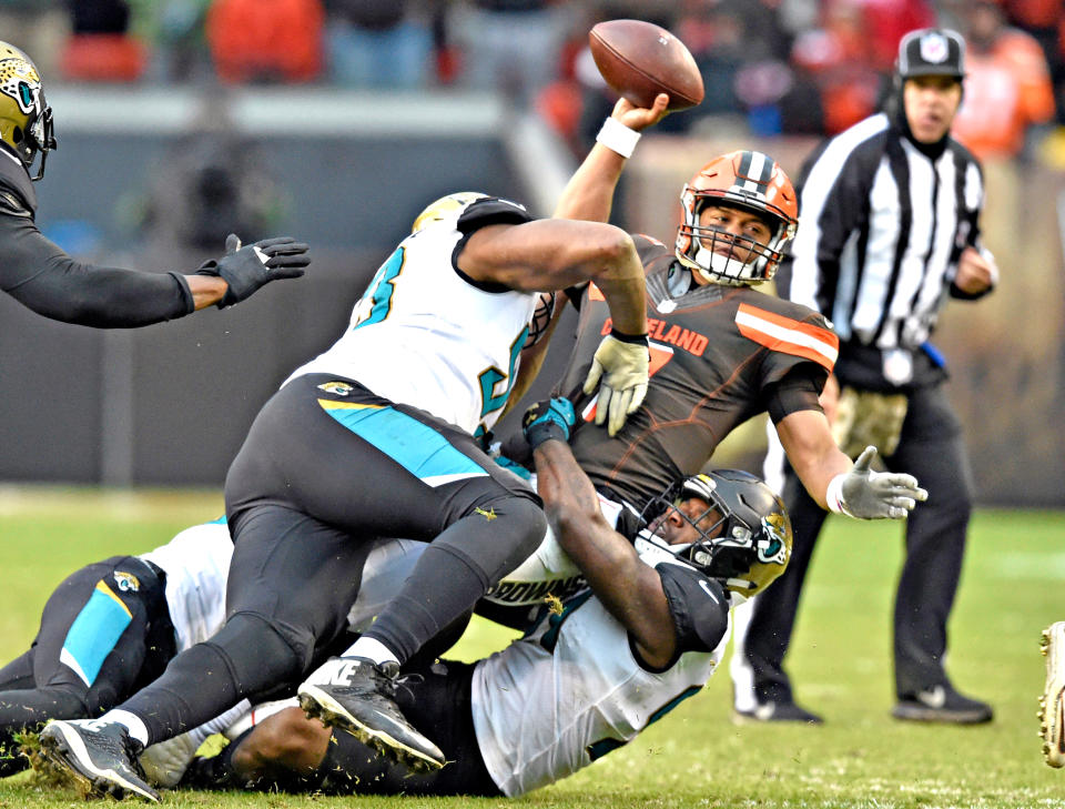
[[418, 479], [485, 474], [443, 435], [392, 407], [325, 412]]

